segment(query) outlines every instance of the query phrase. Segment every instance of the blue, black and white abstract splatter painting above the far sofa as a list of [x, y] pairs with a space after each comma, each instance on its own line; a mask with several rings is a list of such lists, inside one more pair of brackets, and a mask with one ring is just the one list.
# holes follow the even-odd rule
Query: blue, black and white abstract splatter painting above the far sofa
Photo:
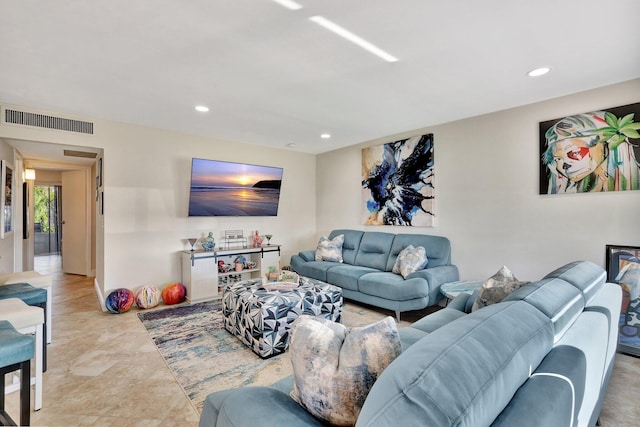
[[433, 134], [362, 150], [362, 222], [433, 227]]

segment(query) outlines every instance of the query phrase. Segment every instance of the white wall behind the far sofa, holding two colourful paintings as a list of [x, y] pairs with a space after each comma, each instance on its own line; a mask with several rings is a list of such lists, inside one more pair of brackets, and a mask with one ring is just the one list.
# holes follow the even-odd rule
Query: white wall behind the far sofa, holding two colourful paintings
[[[569, 261], [604, 267], [605, 245], [640, 246], [640, 191], [538, 194], [538, 123], [640, 101], [640, 80], [369, 141], [318, 156], [315, 246], [334, 228], [424, 233], [451, 240], [463, 279], [483, 279], [503, 264], [537, 280]], [[436, 226], [375, 227], [360, 222], [363, 147], [432, 132]]]

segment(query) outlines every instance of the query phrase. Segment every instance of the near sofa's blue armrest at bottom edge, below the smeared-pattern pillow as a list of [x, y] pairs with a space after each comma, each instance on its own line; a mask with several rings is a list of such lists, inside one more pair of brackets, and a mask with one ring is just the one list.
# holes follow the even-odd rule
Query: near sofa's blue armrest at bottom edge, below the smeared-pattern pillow
[[199, 423], [199, 427], [258, 425], [322, 426], [323, 424], [288, 394], [273, 387], [242, 387], [212, 393], [205, 400]]

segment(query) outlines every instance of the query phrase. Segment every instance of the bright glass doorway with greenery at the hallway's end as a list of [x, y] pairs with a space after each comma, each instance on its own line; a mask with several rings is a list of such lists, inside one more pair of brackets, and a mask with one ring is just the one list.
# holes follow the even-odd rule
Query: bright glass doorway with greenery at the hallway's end
[[59, 185], [36, 185], [33, 190], [33, 254], [59, 255], [62, 244], [61, 194]]

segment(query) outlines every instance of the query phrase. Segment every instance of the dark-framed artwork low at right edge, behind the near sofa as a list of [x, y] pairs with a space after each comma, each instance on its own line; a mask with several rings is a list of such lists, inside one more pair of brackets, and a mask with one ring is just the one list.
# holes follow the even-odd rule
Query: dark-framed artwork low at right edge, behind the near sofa
[[607, 281], [622, 288], [618, 351], [640, 356], [640, 246], [606, 246]]

